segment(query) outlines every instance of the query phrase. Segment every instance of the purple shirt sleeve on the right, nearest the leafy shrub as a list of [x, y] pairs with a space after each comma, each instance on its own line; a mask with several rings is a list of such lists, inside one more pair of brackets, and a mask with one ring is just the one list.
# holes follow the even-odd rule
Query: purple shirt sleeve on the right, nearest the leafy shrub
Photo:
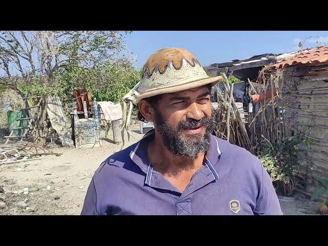
[[262, 169], [262, 185], [259, 189], [260, 195], [256, 199], [255, 215], [282, 215], [277, 193], [273, 187], [271, 177], [267, 170]]

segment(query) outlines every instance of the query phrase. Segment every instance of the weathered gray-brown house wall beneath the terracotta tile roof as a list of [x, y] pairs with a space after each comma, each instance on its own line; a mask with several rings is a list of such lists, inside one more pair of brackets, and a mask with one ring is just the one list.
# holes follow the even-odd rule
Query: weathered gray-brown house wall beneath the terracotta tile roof
[[286, 68], [281, 89], [286, 133], [313, 141], [302, 143], [299, 154], [307, 162], [301, 165], [301, 182], [309, 194], [317, 186], [316, 178], [328, 179], [328, 74], [305, 76], [313, 68]]

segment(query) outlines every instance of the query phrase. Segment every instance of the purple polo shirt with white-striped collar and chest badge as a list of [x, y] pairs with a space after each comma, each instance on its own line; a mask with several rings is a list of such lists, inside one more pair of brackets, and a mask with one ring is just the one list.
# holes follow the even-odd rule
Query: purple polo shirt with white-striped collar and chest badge
[[211, 135], [204, 165], [181, 193], [149, 162], [153, 137], [101, 163], [81, 215], [282, 215], [269, 174], [247, 150]]

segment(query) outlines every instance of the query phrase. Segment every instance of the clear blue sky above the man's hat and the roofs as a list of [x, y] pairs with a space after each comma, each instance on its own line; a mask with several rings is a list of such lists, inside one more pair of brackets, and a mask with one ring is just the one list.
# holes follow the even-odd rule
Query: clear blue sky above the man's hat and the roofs
[[328, 45], [328, 31], [134, 31], [126, 36], [127, 51], [136, 55], [141, 68], [155, 51], [166, 47], [185, 48], [203, 66], [263, 53], [286, 53]]

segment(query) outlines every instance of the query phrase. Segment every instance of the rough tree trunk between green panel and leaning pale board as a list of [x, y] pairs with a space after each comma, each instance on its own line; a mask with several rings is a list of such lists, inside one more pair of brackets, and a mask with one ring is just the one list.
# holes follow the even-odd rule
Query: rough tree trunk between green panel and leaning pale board
[[45, 146], [48, 135], [48, 126], [46, 122], [48, 96], [39, 99], [37, 107], [37, 116], [35, 122], [34, 142], [39, 146]]

